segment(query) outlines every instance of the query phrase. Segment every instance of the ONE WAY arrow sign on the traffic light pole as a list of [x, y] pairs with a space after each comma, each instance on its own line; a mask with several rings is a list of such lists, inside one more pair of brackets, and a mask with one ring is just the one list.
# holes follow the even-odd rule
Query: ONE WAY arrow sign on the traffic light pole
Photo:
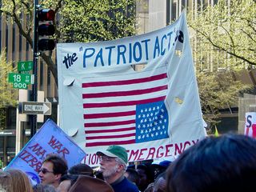
[[51, 102], [19, 102], [22, 114], [51, 114]]

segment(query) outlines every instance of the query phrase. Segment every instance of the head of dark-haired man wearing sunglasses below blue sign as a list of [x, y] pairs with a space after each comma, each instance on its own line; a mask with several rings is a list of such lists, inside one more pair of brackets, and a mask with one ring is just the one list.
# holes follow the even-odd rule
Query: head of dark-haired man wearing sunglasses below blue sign
[[66, 174], [68, 167], [66, 161], [56, 154], [50, 154], [42, 162], [39, 177], [44, 185], [58, 187], [62, 175]]

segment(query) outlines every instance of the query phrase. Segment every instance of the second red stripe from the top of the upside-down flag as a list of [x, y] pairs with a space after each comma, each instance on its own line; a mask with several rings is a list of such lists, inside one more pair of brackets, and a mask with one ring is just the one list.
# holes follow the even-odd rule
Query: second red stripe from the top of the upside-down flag
[[94, 93], [94, 94], [82, 94], [82, 98], [106, 98], [106, 97], [120, 97], [120, 96], [130, 96], [138, 94], [149, 94], [157, 92], [160, 90], [167, 90], [168, 86], [157, 86], [154, 88], [149, 88], [145, 90], [127, 90], [127, 91], [114, 91], [108, 93]]

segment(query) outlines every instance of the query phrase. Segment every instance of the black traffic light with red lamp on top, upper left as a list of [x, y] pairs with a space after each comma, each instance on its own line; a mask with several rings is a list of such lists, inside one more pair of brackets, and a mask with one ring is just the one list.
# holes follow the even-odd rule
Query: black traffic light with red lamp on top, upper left
[[[54, 50], [55, 42], [47, 36], [55, 34], [53, 21], [55, 18], [54, 10], [38, 10], [38, 50]], [[40, 37], [42, 36], [42, 37]]]

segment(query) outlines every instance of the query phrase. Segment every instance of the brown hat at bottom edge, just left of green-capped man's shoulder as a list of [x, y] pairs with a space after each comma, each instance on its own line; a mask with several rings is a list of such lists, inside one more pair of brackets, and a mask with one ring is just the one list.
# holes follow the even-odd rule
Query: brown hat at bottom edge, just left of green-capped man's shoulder
[[[125, 190], [125, 189], [124, 189]], [[69, 192], [114, 192], [113, 188], [102, 179], [93, 178], [86, 175], [79, 175], [74, 185], [71, 186]], [[132, 190], [130, 190], [132, 191]]]

